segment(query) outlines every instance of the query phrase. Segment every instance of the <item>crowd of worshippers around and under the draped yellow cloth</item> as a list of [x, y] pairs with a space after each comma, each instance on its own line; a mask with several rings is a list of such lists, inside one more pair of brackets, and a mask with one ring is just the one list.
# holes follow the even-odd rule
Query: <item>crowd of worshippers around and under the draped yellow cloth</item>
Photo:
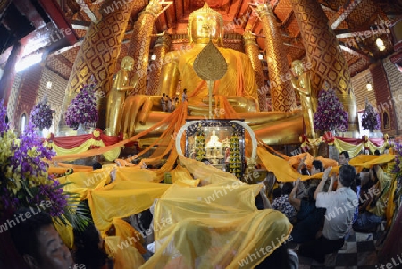
[[[348, 164], [346, 151], [339, 154], [338, 173], [332, 167], [324, 169], [319, 160], [314, 160], [307, 170], [305, 161], [306, 158], [302, 158], [297, 167], [301, 174], [314, 177], [323, 172], [322, 177], [307, 181], [297, 179], [284, 184], [276, 182], [278, 187], [270, 191], [266, 191], [263, 182], [255, 206], [284, 214], [293, 225], [289, 238], [300, 244], [298, 256], [311, 257], [323, 264], [326, 254], [337, 252], [344, 246], [351, 229], [371, 232], [384, 222], [390, 176], [379, 164], [356, 172], [356, 168]], [[94, 170], [101, 168], [102, 164], [93, 165]], [[110, 182], [113, 182], [115, 171], [110, 177]], [[26, 212], [29, 209], [21, 209], [17, 214]], [[149, 209], [125, 220], [138, 231], [153, 228], [153, 212]], [[74, 231], [73, 249], [64, 245], [46, 212], [32, 216], [10, 232], [27, 268], [113, 268], [113, 260], [105, 252], [105, 240], [94, 223], [89, 223], [85, 231]], [[147, 252], [142, 255], [147, 261], [155, 252], [153, 234], [143, 240], [143, 244]], [[255, 268], [298, 268], [298, 256], [287, 242], [283, 242]]]

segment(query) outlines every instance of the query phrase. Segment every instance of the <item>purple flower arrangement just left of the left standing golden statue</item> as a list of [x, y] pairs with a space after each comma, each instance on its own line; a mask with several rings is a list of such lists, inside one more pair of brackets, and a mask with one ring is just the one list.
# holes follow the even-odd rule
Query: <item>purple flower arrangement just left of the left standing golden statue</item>
[[65, 112], [65, 122], [73, 130], [80, 124], [89, 125], [97, 121], [97, 105], [94, 88], [96, 81], [91, 77], [92, 83], [81, 88], [80, 93], [71, 101]]

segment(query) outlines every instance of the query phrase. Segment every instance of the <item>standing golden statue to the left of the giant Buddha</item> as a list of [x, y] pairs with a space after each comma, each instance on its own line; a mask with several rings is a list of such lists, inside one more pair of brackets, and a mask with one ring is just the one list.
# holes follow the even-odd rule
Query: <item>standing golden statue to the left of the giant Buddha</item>
[[107, 95], [106, 135], [117, 136], [120, 132], [126, 91], [135, 87], [138, 81], [138, 76], [134, 76], [132, 83], [129, 81], [129, 74], [134, 63], [134, 59], [130, 56], [124, 57], [121, 61], [121, 69], [114, 75], [112, 88]]

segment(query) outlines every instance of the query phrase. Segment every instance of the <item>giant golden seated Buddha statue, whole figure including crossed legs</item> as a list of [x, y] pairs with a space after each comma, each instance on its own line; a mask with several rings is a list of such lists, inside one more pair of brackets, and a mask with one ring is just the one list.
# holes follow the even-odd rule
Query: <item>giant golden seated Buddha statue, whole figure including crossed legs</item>
[[[193, 69], [193, 63], [203, 48], [213, 41], [224, 56], [227, 72], [221, 80], [214, 82], [214, 100], [227, 100], [237, 116], [255, 130], [264, 142], [272, 144], [297, 143], [303, 131], [301, 111], [292, 113], [259, 112], [255, 72], [248, 56], [239, 51], [222, 47], [222, 15], [205, 3], [205, 6], [190, 14], [188, 37], [191, 48], [186, 51], [172, 51], [165, 55], [161, 79], [160, 96], [135, 95], [126, 98], [123, 118], [120, 122], [125, 137], [149, 129], [171, 113], [163, 112], [161, 95], [180, 97], [187, 89], [188, 117], [205, 118], [208, 116], [208, 87]], [[168, 61], [169, 59], [169, 61]], [[180, 92], [178, 94], [178, 83]], [[217, 104], [215, 104], [217, 105]], [[220, 114], [221, 118], [225, 115]], [[227, 116], [226, 116], [227, 117]], [[119, 124], [119, 122], [117, 122]], [[159, 128], [147, 136], [157, 137], [163, 132]]]

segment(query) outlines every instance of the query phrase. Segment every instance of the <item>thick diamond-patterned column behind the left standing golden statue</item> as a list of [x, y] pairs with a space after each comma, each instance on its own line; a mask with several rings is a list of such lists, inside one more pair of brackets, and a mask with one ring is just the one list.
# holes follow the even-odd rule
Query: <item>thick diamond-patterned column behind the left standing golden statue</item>
[[[103, 13], [102, 19], [93, 22], [87, 36], [77, 54], [66, 93], [63, 100], [62, 113], [70, 105], [71, 100], [80, 92], [83, 84], [90, 82], [91, 75], [97, 80], [96, 90], [108, 92], [112, 86], [114, 69], [120, 55], [121, 41], [130, 19], [131, 8], [135, 1], [127, 2], [113, 13]], [[113, 4], [105, 2], [104, 6]], [[101, 9], [103, 10], [103, 9]], [[59, 125], [65, 124], [62, 114]], [[105, 98], [100, 100], [98, 127], [105, 127]]]

